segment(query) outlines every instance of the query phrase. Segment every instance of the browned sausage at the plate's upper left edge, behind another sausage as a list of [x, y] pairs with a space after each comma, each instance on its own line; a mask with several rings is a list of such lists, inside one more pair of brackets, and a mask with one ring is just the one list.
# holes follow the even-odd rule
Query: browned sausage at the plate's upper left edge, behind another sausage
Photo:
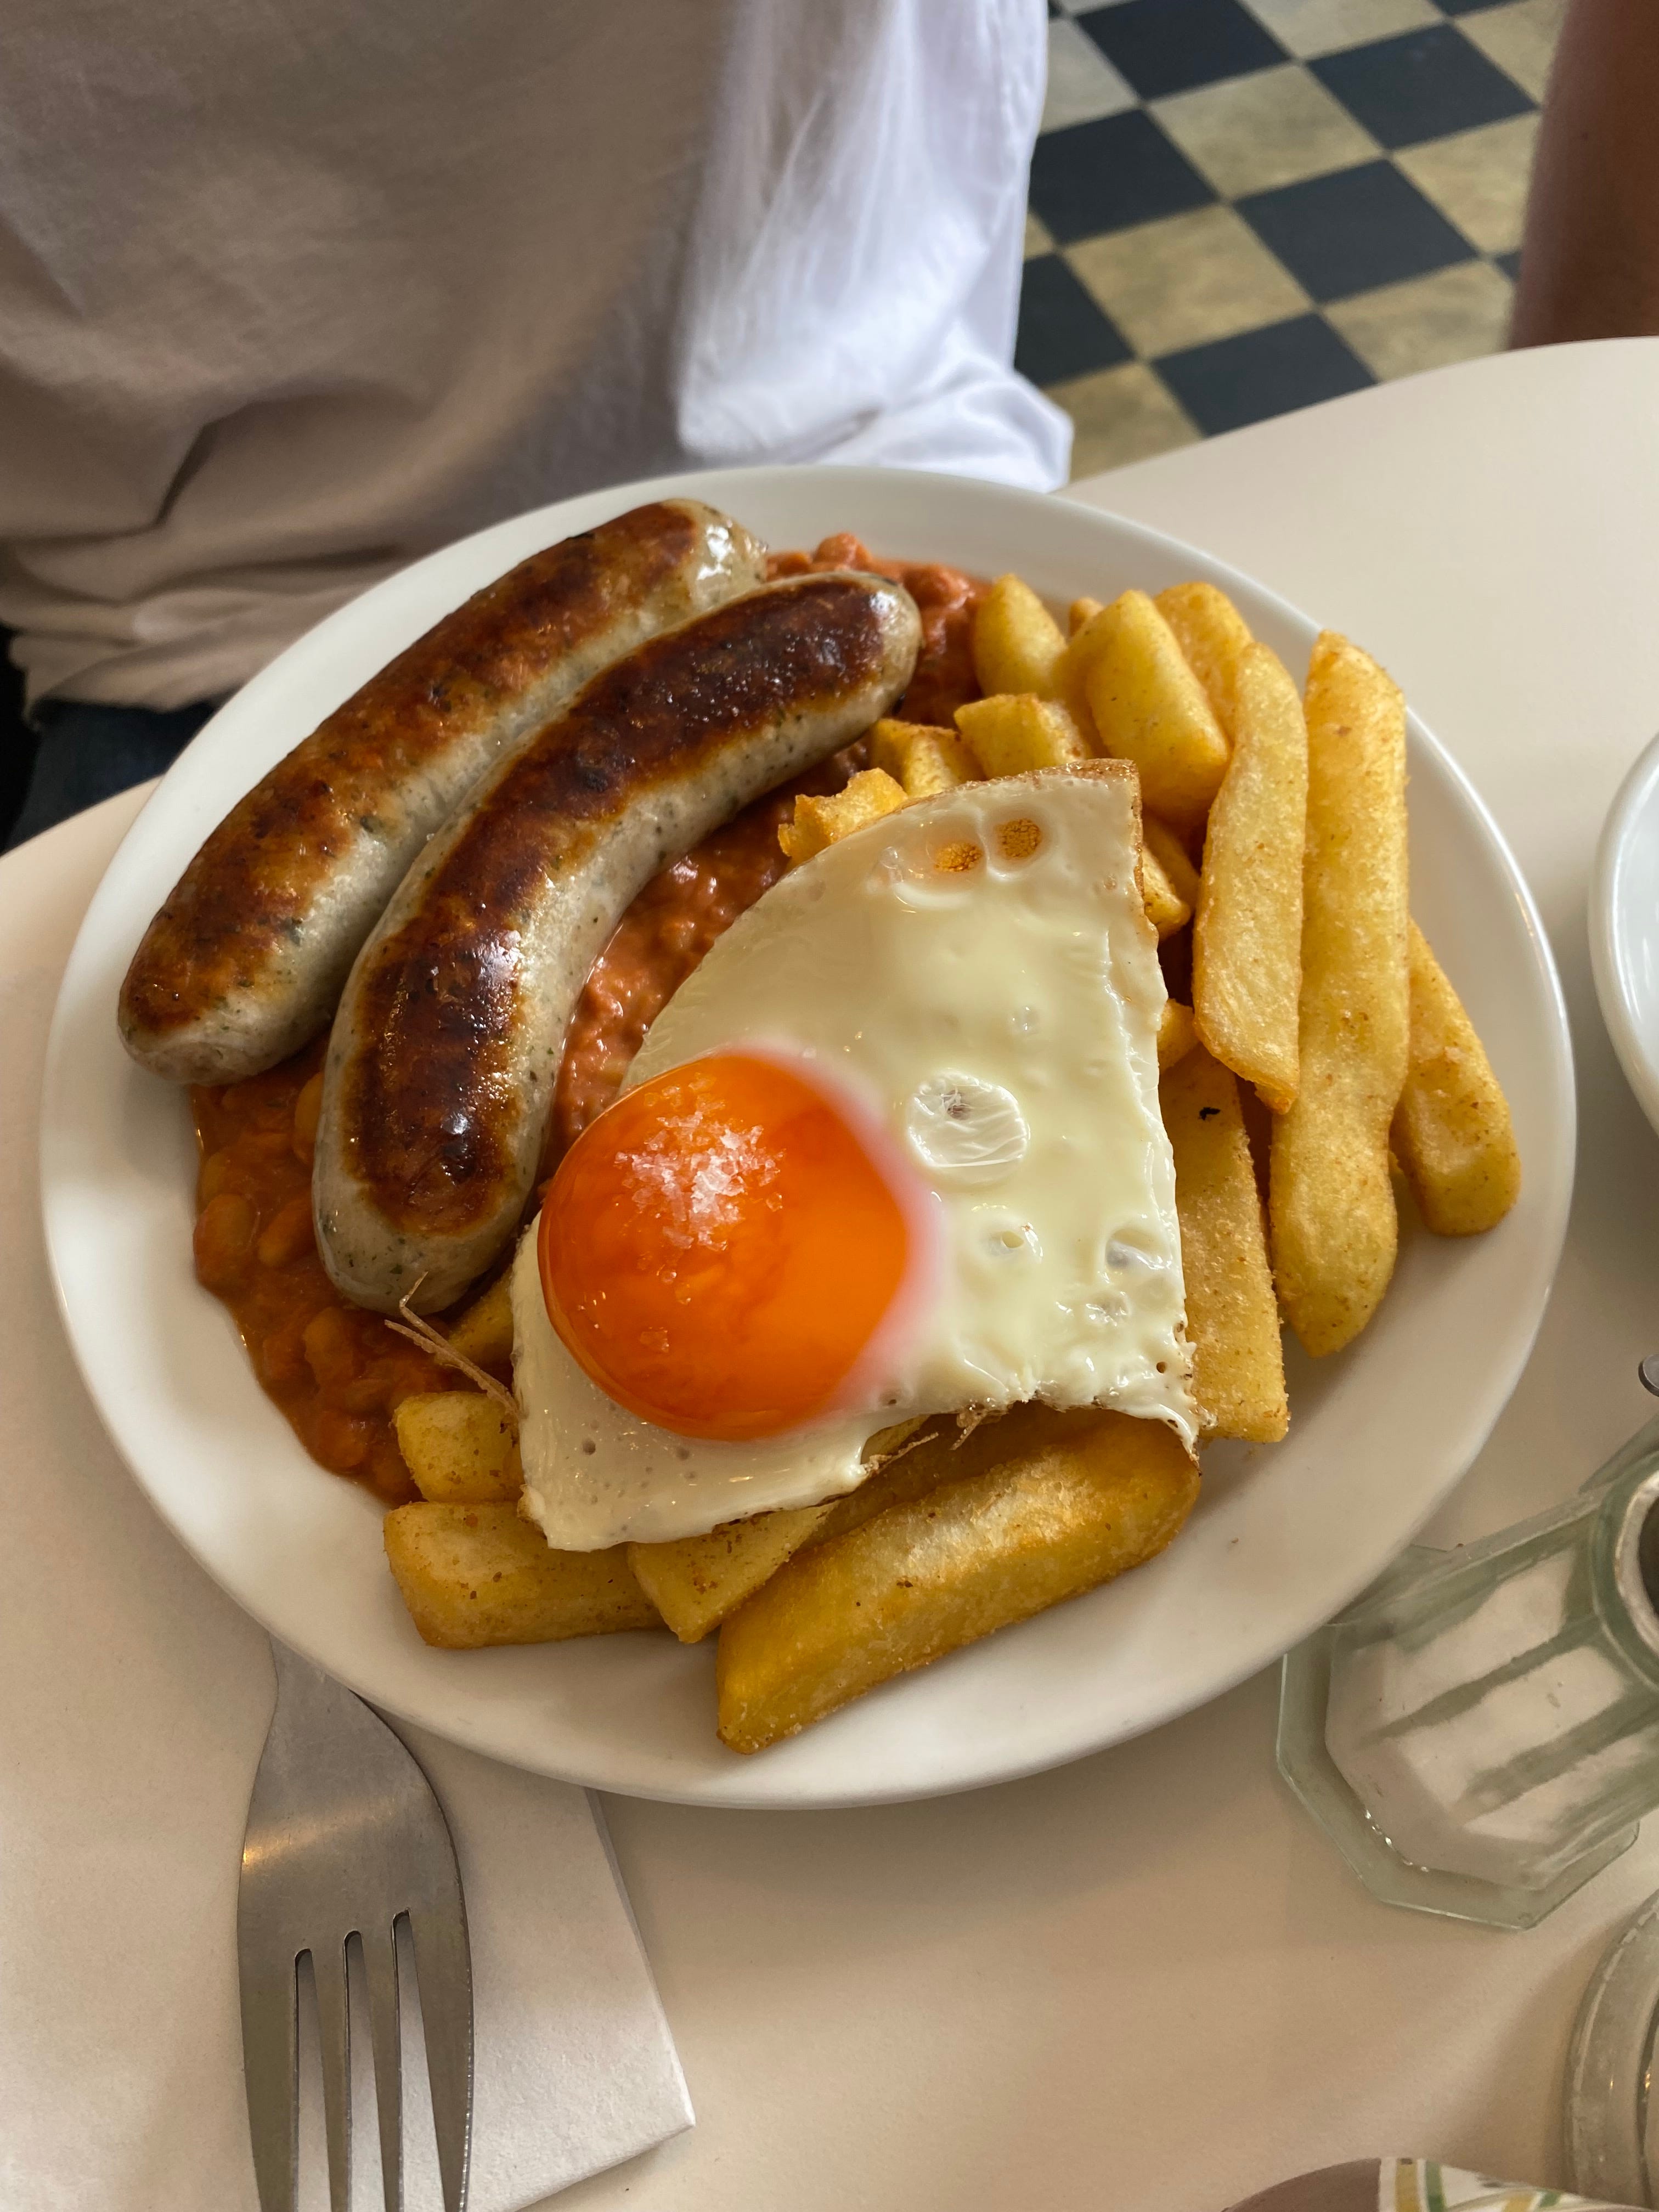
[[230, 1084], [299, 1051], [467, 792], [597, 670], [763, 575], [741, 524], [655, 500], [473, 593], [206, 841], [126, 971], [128, 1053], [173, 1082]]

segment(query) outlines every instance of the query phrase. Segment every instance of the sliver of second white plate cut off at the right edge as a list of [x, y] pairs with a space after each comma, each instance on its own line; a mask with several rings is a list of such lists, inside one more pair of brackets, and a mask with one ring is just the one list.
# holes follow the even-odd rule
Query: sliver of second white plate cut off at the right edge
[[1595, 847], [1590, 969], [1619, 1066], [1659, 1128], [1659, 737], [1619, 785]]

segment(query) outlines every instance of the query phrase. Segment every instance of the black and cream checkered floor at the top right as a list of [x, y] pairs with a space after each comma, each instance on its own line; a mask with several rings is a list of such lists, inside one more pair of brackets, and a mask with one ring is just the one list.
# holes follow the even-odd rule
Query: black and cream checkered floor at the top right
[[1509, 330], [1566, 0], [1048, 0], [1020, 367], [1091, 476]]

